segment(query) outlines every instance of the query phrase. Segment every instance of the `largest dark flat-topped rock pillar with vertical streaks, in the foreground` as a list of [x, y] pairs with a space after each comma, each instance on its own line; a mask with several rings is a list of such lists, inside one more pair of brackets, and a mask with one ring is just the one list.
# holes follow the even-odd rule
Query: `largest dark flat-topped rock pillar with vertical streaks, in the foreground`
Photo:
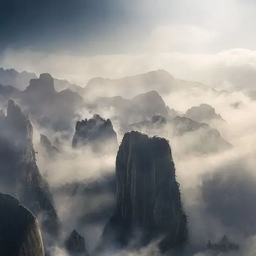
[[99, 250], [160, 238], [159, 247], [166, 251], [186, 241], [186, 215], [167, 140], [126, 133], [116, 158], [116, 181], [116, 212]]

